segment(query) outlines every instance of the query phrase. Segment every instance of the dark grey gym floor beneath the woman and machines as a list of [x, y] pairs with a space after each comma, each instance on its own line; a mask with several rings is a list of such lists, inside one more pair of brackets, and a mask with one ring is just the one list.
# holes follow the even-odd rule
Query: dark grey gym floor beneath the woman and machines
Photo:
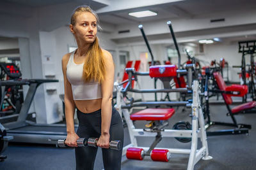
[[[231, 118], [226, 116], [227, 108], [224, 104], [211, 104], [212, 121], [231, 122]], [[136, 111], [136, 110], [134, 110]], [[189, 109], [182, 112], [180, 107], [175, 115], [170, 118], [169, 127], [180, 120], [189, 120]], [[200, 160], [195, 169], [200, 170], [254, 170], [256, 167], [256, 114], [237, 115], [237, 122], [251, 124], [252, 129], [248, 135], [226, 135], [226, 136], [209, 136], [209, 155], [212, 160]], [[136, 127], [143, 128], [145, 122], [135, 122]], [[212, 127], [216, 129], [217, 127]], [[220, 127], [218, 127], [219, 129]], [[230, 129], [230, 127], [221, 127]], [[212, 130], [211, 129], [211, 130]], [[125, 136], [128, 136], [125, 128]], [[139, 146], [148, 146], [154, 138], [138, 138]], [[124, 141], [127, 145], [129, 139]], [[200, 142], [199, 142], [200, 144]], [[190, 148], [190, 143], [180, 143], [173, 138], [163, 138], [157, 147], [169, 148]], [[58, 169], [70, 170], [75, 168], [74, 149], [56, 148], [52, 145], [34, 145], [10, 143], [3, 155], [8, 158], [0, 162], [1, 170], [29, 170], [29, 169]], [[169, 162], [153, 162], [149, 157], [143, 161], [127, 160], [122, 158], [122, 170], [166, 170], [166, 169], [186, 169], [189, 155], [173, 154]], [[103, 169], [101, 150], [98, 150], [95, 160], [95, 170]]]

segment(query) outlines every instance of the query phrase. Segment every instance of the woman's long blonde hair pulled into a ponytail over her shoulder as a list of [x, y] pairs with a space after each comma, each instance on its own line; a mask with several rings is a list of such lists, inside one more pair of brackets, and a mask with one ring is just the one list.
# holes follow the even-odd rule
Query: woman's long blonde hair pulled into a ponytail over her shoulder
[[[95, 13], [95, 11], [90, 8], [90, 6], [77, 6], [77, 8], [73, 11], [70, 24], [76, 25], [77, 15], [81, 12], [90, 12], [97, 20], [97, 29], [101, 30], [99, 26], [99, 17]], [[99, 81], [102, 83], [105, 79], [106, 74], [106, 62], [104, 60], [104, 56], [102, 53], [102, 49], [99, 46], [99, 40], [96, 37], [95, 41], [89, 46], [88, 51], [86, 53], [86, 60], [84, 61], [83, 67], [83, 79], [84, 82], [90, 81]]]

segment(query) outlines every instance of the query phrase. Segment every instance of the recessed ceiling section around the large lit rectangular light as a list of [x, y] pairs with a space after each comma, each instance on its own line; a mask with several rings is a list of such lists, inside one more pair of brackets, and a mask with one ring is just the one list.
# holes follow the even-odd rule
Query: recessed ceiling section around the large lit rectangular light
[[[196, 16], [207, 16], [210, 13], [223, 11], [243, 11], [256, 9], [255, 0], [187, 0], [175, 3], [156, 4], [153, 6], [143, 6], [126, 10], [111, 11], [100, 13], [100, 20], [111, 24], [127, 24], [150, 22], [172, 18], [193, 18]], [[158, 13], [157, 16], [136, 18], [128, 15], [132, 11], [152, 10]]]

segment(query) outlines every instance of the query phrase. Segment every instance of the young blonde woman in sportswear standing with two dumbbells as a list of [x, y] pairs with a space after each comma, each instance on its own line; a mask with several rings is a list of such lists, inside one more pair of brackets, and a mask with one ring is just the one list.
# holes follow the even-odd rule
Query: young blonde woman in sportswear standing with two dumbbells
[[[62, 59], [65, 87], [65, 117], [68, 146], [76, 147], [76, 169], [93, 169], [97, 148], [77, 147], [78, 138], [99, 138], [105, 170], [121, 167], [122, 150], [109, 149], [109, 141], [124, 141], [122, 119], [112, 108], [114, 64], [111, 53], [99, 46], [99, 20], [89, 6], [78, 6], [71, 17], [70, 31], [77, 50]], [[74, 130], [77, 108], [79, 127]]]

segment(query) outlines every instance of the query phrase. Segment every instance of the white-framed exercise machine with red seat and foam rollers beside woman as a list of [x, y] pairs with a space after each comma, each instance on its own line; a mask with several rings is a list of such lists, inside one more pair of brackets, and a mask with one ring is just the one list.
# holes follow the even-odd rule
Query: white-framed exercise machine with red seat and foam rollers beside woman
[[[168, 162], [172, 153], [188, 154], [189, 161], [187, 169], [194, 169], [196, 162], [200, 159], [209, 160], [212, 159], [209, 156], [207, 146], [207, 136], [205, 132], [204, 116], [202, 113], [202, 107], [200, 106], [200, 89], [198, 81], [194, 80], [192, 83], [192, 67], [188, 66], [188, 71], [178, 70], [175, 65], [160, 65], [150, 66], [148, 73], [138, 73], [135, 69], [126, 69], [129, 75], [129, 82], [127, 86], [122, 87], [122, 83], [116, 87], [117, 101], [120, 104], [116, 104], [116, 110], [120, 111], [124, 116], [124, 121], [127, 123], [127, 129], [129, 131], [129, 137], [131, 143], [123, 148], [123, 155], [126, 154], [127, 159], [143, 160], [144, 156], [150, 156], [154, 161]], [[187, 73], [188, 78], [187, 88], [170, 89], [170, 81], [176, 77], [177, 74]], [[164, 89], [132, 89], [131, 81], [138, 80], [137, 76], [150, 76], [151, 78], [157, 78], [163, 81]], [[134, 78], [134, 79], [132, 79]], [[193, 84], [193, 85], [192, 85]], [[117, 85], [115, 85], [117, 86]], [[193, 90], [193, 101], [144, 101], [133, 102], [132, 99], [128, 99], [127, 92], [134, 93], [156, 93], [156, 92], [191, 92]], [[130, 101], [130, 103], [128, 103]], [[164, 129], [168, 125], [168, 120], [172, 118], [175, 113], [173, 108], [147, 108], [145, 110], [138, 111], [130, 115], [129, 110], [135, 106], [189, 106], [191, 108], [192, 123], [191, 129]], [[134, 126], [134, 121], [150, 121], [145, 125], [144, 129], [138, 129]], [[138, 146], [136, 137], [155, 137], [153, 143], [147, 146]], [[162, 138], [191, 138], [191, 148], [157, 148], [157, 143]], [[198, 140], [200, 138], [200, 140]], [[202, 145], [198, 145], [198, 143]]]

